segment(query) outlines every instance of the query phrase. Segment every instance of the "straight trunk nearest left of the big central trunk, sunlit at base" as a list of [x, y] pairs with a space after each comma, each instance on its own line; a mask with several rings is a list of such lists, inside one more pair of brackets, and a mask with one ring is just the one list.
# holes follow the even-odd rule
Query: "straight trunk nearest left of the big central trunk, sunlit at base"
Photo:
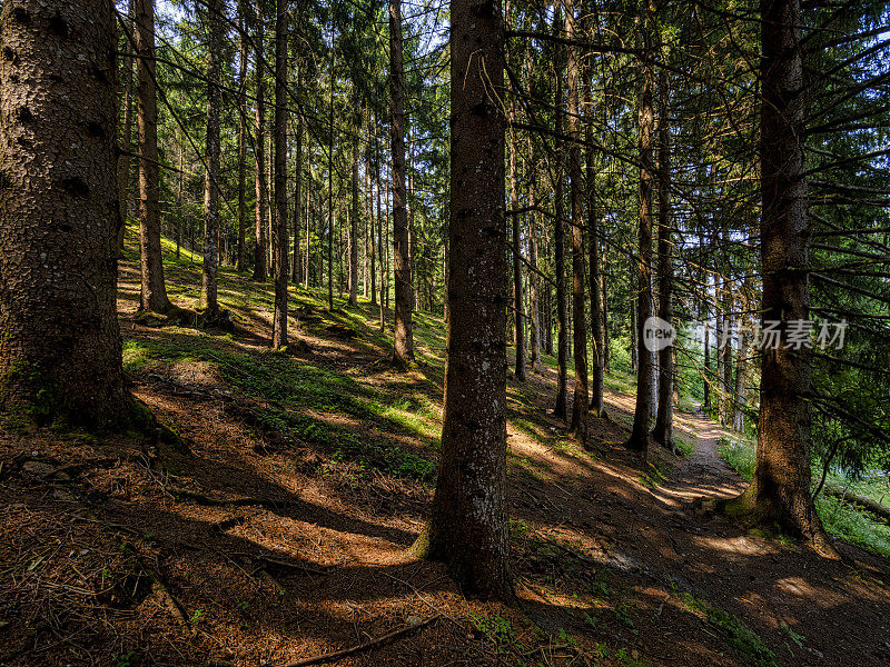
[[411, 260], [405, 192], [405, 73], [402, 56], [402, 0], [389, 0], [389, 140], [393, 152], [393, 257], [395, 261], [395, 351], [393, 361], [414, 364]]

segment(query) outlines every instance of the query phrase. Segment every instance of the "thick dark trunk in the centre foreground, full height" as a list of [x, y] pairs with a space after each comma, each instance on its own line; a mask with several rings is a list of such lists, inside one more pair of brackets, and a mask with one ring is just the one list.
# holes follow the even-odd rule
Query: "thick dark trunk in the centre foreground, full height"
[[452, 0], [448, 358], [442, 459], [414, 545], [462, 590], [508, 599], [504, 56], [500, 0]]

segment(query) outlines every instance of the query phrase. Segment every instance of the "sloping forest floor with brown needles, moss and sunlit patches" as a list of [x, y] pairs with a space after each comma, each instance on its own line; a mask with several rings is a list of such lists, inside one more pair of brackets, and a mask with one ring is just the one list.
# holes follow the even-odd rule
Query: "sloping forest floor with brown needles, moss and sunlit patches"
[[[888, 563], [696, 509], [744, 488], [722, 431], [680, 412], [688, 456], [643, 465], [622, 446], [634, 399], [617, 375], [587, 448], [548, 412], [552, 366], [510, 380], [518, 604], [465, 599], [405, 554], [435, 484], [441, 319], [418, 313], [418, 367], [398, 374], [367, 300], [329, 312], [291, 288], [293, 344], [271, 352], [270, 289], [231, 270], [229, 332], [137, 317], [129, 243], [125, 366], [178, 438], [3, 422], [0, 665], [284, 666], [367, 643], [333, 664], [890, 664]], [[199, 265], [165, 250], [191, 308]]]

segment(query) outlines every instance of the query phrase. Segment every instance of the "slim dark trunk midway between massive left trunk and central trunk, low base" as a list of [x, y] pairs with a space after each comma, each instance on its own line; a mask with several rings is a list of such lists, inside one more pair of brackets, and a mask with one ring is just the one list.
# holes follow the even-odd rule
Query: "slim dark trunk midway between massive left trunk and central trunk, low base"
[[271, 242], [275, 261], [275, 310], [271, 347], [287, 347], [287, 4], [278, 0], [275, 14], [275, 216]]

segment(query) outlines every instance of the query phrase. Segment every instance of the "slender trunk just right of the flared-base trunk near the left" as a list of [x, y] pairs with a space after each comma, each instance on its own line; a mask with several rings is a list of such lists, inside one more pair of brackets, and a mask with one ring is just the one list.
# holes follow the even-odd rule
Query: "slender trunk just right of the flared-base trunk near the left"
[[219, 266], [219, 106], [220, 68], [222, 59], [221, 0], [207, 3], [207, 140], [204, 175], [204, 263], [201, 269], [201, 302], [210, 318], [216, 316], [217, 269]]

